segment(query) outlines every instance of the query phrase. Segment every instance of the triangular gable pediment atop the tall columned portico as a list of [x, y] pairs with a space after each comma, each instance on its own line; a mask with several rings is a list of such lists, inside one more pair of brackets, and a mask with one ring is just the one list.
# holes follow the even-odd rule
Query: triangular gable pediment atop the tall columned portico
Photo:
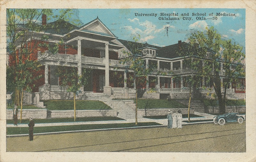
[[90, 31], [90, 32], [100, 33], [103, 35], [116, 37], [115, 34], [113, 34], [108, 29], [108, 27], [102, 23], [102, 21], [98, 18], [98, 16], [96, 19], [80, 27], [79, 30]]

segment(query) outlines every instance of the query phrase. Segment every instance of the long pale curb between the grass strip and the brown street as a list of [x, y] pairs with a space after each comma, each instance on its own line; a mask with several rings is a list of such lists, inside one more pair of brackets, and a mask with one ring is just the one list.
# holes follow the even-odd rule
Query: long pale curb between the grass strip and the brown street
[[[207, 122], [195, 122], [195, 123], [182, 123], [182, 125], [193, 125], [193, 124], [204, 124], [213, 123], [212, 121]], [[61, 132], [47, 132], [47, 133], [34, 133], [34, 135], [51, 135], [51, 134], [62, 134], [62, 133], [75, 133], [75, 132], [89, 132], [89, 131], [105, 131], [105, 130], [124, 130], [124, 129], [138, 129], [138, 128], [149, 128], [149, 127], [166, 127], [167, 125], [149, 125], [149, 126], [139, 126], [139, 127], [126, 127], [126, 128], [106, 128], [106, 129], [94, 129], [94, 130], [73, 130], [73, 131], [61, 131]], [[24, 137], [28, 134], [14, 134], [6, 135], [6, 137]]]

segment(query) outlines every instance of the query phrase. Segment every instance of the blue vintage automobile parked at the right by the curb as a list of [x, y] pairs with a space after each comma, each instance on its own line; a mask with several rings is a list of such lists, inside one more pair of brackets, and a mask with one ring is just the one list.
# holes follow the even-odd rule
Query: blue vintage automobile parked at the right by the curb
[[224, 125], [226, 122], [238, 122], [243, 123], [244, 117], [239, 116], [238, 113], [226, 113], [213, 117], [214, 124]]

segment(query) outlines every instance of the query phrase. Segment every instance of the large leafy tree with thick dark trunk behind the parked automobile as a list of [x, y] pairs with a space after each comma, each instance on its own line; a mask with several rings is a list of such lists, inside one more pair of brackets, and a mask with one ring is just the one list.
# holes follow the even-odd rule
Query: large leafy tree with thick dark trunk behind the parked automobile
[[[232, 43], [231, 40], [221, 39], [220, 34], [213, 27], [206, 28], [206, 32], [192, 33], [188, 40], [189, 48], [192, 49], [191, 53], [187, 53], [190, 56], [190, 59], [187, 59], [190, 60], [188, 65], [193, 71], [197, 71], [196, 76], [204, 78], [206, 83], [213, 86], [218, 97], [220, 113], [225, 113], [227, 85], [231, 81], [237, 81], [244, 74], [241, 61], [245, 55], [242, 53], [242, 47]], [[223, 96], [221, 94], [221, 62], [225, 65], [223, 69], [226, 71], [226, 79], [223, 80], [226, 88]], [[236, 68], [231, 68], [231, 65], [235, 65]]]

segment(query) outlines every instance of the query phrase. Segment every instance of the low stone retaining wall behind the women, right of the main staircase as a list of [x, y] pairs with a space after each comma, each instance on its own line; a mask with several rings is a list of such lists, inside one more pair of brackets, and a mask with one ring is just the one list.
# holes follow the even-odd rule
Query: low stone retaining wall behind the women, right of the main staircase
[[[138, 109], [138, 116], [158, 116], [167, 115], [169, 109]], [[188, 109], [171, 109], [172, 111], [180, 110], [182, 114], [188, 114]], [[189, 110], [190, 114], [194, 114], [194, 109]]]

